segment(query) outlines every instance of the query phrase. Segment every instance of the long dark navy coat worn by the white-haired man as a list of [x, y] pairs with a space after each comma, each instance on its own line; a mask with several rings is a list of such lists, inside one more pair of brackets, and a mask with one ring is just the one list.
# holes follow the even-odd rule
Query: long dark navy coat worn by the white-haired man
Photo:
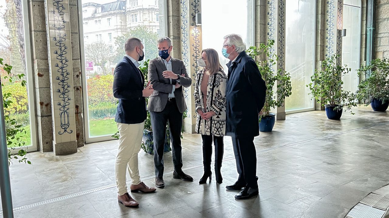
[[265, 104], [266, 83], [256, 62], [246, 52], [241, 52], [227, 66], [226, 135], [258, 136], [258, 113]]

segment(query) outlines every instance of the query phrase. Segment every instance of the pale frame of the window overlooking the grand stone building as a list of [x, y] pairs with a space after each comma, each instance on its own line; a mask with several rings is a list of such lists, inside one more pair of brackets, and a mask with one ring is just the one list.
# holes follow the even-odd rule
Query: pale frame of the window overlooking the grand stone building
[[[27, 1], [27, 0], [23, 0]], [[132, 2], [133, 0], [130, 0]], [[164, 22], [164, 27], [160, 28], [160, 31], [163, 31], [165, 35], [168, 33], [168, 20], [166, 19], [167, 17], [167, 0], [159, 0], [163, 1], [163, 9], [162, 11], [164, 12], [165, 16], [163, 17], [163, 22]], [[158, 2], [159, 3], [159, 2]], [[158, 4], [159, 6], [159, 4]], [[79, 40], [80, 40], [80, 52], [81, 52], [81, 73], [82, 73], [82, 78], [86, 78], [86, 68], [85, 68], [85, 42], [84, 42], [84, 26], [82, 24], [83, 16], [82, 16], [82, 0], [77, 0], [77, 7], [78, 7], [78, 14], [79, 14]], [[87, 87], [86, 84], [86, 79], [82, 80], [82, 86]], [[103, 141], [108, 141], [108, 140], [115, 140], [115, 138], [112, 138], [111, 135], [103, 135], [103, 136], [98, 136], [98, 137], [91, 137], [89, 135], [89, 111], [88, 111], [88, 92], [86, 89], [82, 89], [82, 103], [83, 103], [83, 108], [84, 108], [84, 142], [86, 144], [88, 143], [93, 143], [93, 142], [103, 142]]]

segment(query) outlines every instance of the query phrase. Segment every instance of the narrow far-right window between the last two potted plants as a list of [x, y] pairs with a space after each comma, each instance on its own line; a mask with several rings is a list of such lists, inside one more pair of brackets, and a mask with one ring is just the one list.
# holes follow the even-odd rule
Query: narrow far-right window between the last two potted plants
[[346, 36], [342, 40], [342, 64], [351, 68], [351, 72], [342, 77], [343, 88], [350, 92], [358, 90], [358, 75], [361, 54], [361, 1], [345, 0], [343, 5], [343, 29]]

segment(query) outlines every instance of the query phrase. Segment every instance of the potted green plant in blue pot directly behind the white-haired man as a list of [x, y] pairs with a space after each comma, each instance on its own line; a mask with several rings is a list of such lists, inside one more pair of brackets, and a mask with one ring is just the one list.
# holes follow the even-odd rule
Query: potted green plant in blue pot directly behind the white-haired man
[[[259, 131], [270, 132], [273, 130], [275, 123], [275, 114], [270, 110], [276, 107], [282, 107], [286, 97], [292, 94], [291, 76], [289, 73], [278, 69], [273, 70], [277, 64], [278, 56], [272, 53], [274, 40], [269, 40], [265, 45], [261, 43], [259, 47], [251, 46], [247, 49], [247, 54], [254, 60], [263, 58], [263, 61], [256, 61], [259, 72], [266, 82], [266, 99], [265, 106], [259, 116]], [[274, 85], [277, 83], [277, 90]]]

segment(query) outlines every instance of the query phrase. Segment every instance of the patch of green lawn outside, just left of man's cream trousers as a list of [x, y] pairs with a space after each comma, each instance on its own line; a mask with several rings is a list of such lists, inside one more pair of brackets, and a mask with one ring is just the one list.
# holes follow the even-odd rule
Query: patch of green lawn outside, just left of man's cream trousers
[[89, 120], [89, 135], [101, 136], [101, 135], [113, 135], [117, 131], [115, 119], [92, 119]]

